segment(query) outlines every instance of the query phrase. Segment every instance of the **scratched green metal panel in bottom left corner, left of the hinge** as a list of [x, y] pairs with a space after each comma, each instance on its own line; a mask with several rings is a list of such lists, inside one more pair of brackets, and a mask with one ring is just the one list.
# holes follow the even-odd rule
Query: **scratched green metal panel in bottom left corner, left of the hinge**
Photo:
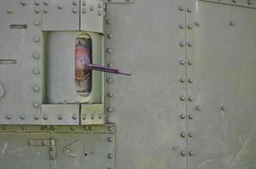
[[48, 134], [0, 134], [1, 168], [48, 169], [48, 147], [28, 144], [29, 139], [46, 139], [48, 137]]

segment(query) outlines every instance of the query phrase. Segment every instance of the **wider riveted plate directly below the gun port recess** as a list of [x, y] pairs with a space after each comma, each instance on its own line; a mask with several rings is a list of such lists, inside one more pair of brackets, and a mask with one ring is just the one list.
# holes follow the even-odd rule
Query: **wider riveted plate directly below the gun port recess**
[[79, 104], [42, 105], [43, 125], [79, 125]]

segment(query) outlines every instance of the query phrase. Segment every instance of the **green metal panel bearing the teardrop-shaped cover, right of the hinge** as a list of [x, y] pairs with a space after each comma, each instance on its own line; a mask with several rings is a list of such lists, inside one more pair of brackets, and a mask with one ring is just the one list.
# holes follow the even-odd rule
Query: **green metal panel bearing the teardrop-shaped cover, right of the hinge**
[[54, 169], [114, 168], [114, 134], [51, 134], [51, 137], [56, 144]]

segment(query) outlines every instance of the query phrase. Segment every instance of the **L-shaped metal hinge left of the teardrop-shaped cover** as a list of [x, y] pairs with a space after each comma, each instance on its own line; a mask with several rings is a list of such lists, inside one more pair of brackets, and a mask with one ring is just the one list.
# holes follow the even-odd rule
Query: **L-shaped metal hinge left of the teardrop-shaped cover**
[[49, 159], [54, 161], [56, 157], [55, 141], [54, 139], [30, 139], [29, 146], [47, 146], [49, 147]]

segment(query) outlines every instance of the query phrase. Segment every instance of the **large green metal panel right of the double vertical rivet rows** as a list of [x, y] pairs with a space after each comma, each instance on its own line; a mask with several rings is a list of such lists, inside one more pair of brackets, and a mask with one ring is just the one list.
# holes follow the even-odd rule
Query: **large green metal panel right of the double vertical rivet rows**
[[[189, 168], [255, 168], [256, 10], [194, 1], [187, 37]], [[191, 16], [191, 17], [190, 17]]]

